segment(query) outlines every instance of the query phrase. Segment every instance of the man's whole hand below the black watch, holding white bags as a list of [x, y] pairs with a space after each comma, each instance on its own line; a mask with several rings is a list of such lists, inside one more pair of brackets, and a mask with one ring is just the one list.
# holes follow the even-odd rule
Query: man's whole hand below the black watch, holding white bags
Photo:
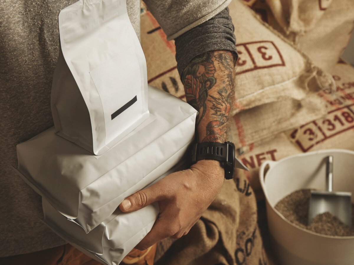
[[155, 201], [160, 214], [152, 230], [135, 247], [146, 249], [166, 238], [179, 238], [189, 232], [219, 193], [224, 169], [216, 160], [200, 160], [190, 169], [172, 173], [149, 188], [126, 198], [122, 212], [139, 210]]

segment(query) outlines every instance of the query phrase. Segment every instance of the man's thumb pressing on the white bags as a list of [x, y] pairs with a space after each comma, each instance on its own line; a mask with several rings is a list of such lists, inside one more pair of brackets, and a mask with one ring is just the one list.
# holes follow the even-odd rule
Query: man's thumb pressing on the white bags
[[159, 182], [149, 188], [139, 190], [124, 199], [119, 205], [122, 212], [130, 213], [137, 211], [145, 206], [152, 204], [155, 201], [161, 200], [163, 189], [160, 188]]

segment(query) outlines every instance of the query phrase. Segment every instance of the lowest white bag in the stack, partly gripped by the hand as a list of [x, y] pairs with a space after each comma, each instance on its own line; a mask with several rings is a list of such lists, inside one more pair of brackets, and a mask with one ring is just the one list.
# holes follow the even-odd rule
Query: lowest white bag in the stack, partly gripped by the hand
[[[182, 160], [156, 179], [187, 168]], [[148, 185], [147, 187], [149, 187]], [[159, 214], [158, 202], [144, 208], [122, 213], [119, 208], [88, 234], [65, 218], [45, 198], [42, 198], [44, 223], [80, 251], [107, 265], [117, 265], [147, 235]]]

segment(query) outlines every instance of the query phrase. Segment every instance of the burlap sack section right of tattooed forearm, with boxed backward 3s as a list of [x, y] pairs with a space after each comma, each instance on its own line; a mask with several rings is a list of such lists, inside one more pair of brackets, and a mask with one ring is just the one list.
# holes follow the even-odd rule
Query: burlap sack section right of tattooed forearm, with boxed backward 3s
[[334, 85], [330, 75], [239, 1], [229, 7], [239, 52], [232, 141], [245, 146], [324, 114], [314, 92]]

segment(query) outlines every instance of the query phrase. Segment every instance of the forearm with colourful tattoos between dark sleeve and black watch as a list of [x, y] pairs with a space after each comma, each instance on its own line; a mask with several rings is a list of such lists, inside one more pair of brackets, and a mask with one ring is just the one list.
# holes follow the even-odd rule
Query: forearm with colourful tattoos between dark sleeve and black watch
[[182, 75], [187, 102], [199, 111], [198, 142], [224, 142], [234, 98], [233, 56], [213, 51], [194, 58]]

